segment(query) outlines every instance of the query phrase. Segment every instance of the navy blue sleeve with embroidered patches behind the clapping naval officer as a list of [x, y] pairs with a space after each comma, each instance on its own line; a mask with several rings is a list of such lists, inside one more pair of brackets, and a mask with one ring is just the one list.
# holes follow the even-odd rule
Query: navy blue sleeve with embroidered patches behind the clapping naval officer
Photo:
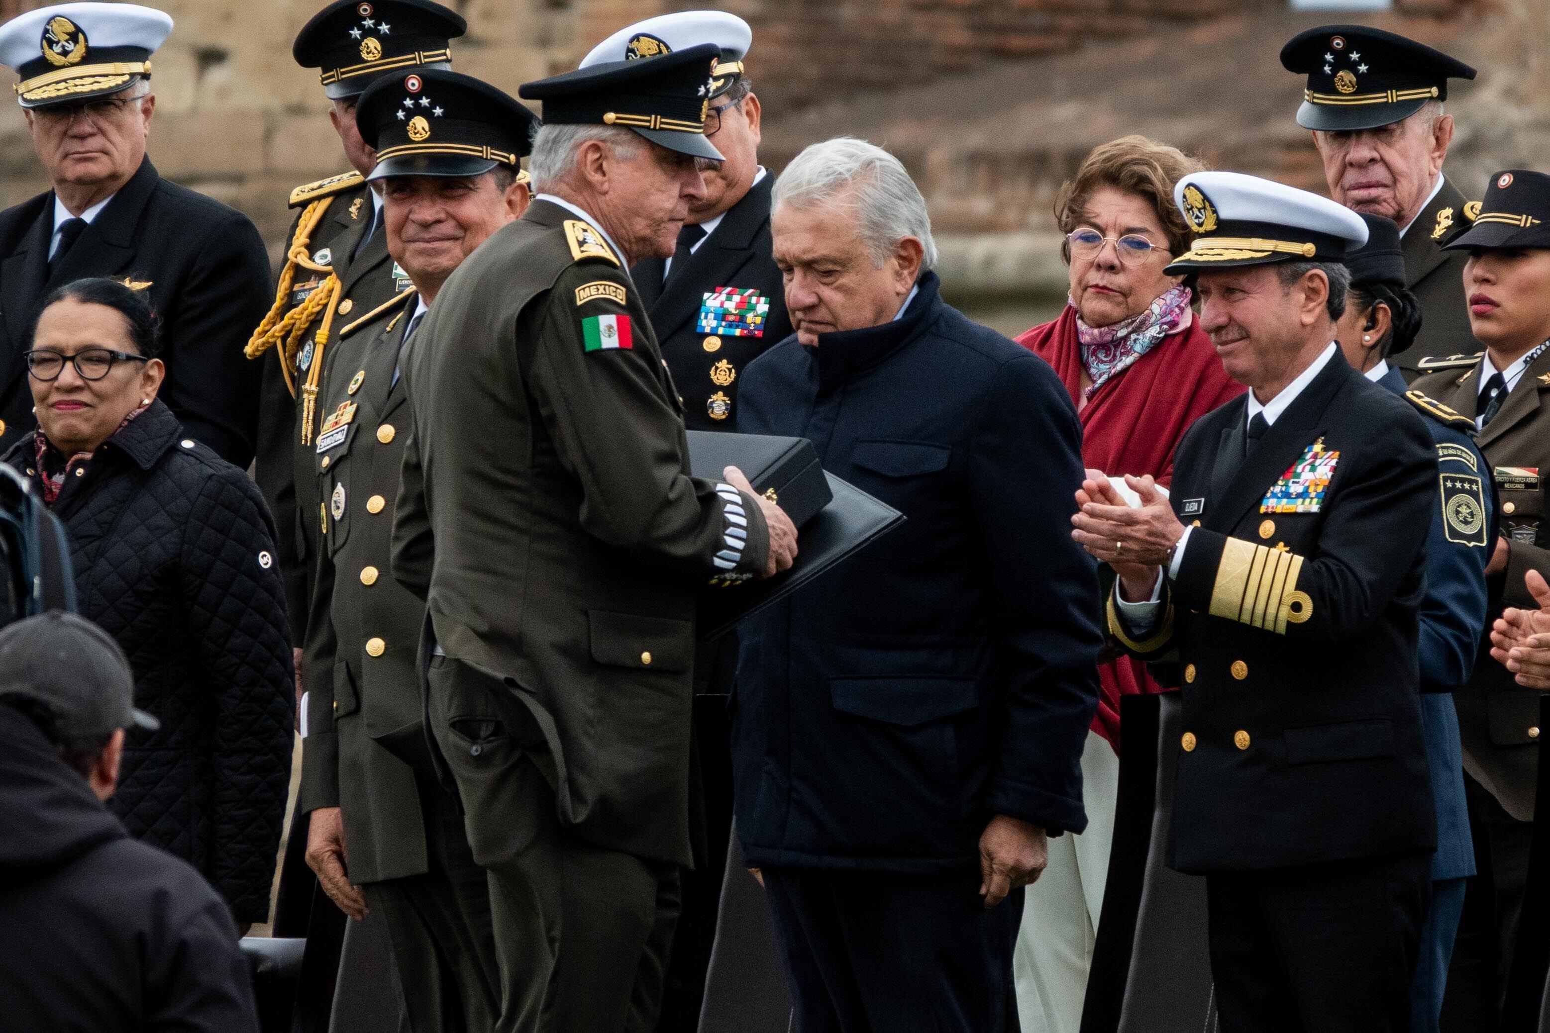
[[[1426, 539], [1426, 599], [1421, 602], [1421, 638], [1417, 660], [1421, 669], [1421, 692], [1449, 692], [1465, 683], [1474, 669], [1476, 649], [1485, 629], [1485, 564], [1491, 558], [1496, 513], [1490, 482], [1479, 471], [1490, 469], [1466, 435], [1434, 431], [1440, 489], [1432, 508], [1432, 531]], [[1452, 444], [1454, 448], [1442, 448]], [[1476, 466], [1462, 458], [1459, 449], [1472, 454]], [[1462, 480], [1462, 483], [1459, 483]], [[1466, 494], [1483, 508], [1479, 534], [1474, 522], [1449, 522], [1449, 505], [1460, 505], [1457, 492], [1474, 483]]]

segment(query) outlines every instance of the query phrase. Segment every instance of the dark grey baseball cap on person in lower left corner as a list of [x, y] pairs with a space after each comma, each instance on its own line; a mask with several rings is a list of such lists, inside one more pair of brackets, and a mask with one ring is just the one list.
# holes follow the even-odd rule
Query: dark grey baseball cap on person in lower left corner
[[0, 629], [0, 697], [48, 708], [62, 739], [107, 739], [119, 728], [155, 731], [135, 709], [135, 675], [113, 637], [74, 613], [50, 612]]

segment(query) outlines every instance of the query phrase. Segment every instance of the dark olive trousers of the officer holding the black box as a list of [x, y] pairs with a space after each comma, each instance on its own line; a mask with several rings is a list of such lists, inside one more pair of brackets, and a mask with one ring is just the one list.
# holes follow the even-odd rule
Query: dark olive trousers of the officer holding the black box
[[572, 836], [484, 675], [437, 657], [428, 683], [431, 728], [485, 872], [494, 1030], [651, 1033], [680, 908], [677, 866]]

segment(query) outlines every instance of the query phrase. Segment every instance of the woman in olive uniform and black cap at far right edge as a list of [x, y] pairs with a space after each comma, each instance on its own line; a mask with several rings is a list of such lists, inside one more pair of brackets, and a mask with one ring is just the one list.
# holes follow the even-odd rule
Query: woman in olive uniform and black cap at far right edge
[[[1468, 257], [1479, 355], [1415, 383], [1476, 421], [1476, 443], [1500, 499], [1500, 536], [1485, 568], [1486, 618], [1504, 607], [1534, 609], [1528, 571], [1550, 576], [1544, 541], [1544, 486], [1550, 474], [1550, 177], [1496, 173], [1474, 225], [1448, 242]], [[1528, 883], [1539, 760], [1539, 697], [1480, 650], [1469, 681], [1454, 691], [1463, 743], [1465, 794], [1476, 830], [1476, 867], [1448, 976], [1442, 1028], [1496, 1028], [1511, 971]]]

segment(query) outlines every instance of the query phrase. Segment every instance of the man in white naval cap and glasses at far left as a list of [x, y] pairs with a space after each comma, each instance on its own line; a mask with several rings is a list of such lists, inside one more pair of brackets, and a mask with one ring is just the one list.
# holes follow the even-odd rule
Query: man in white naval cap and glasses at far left
[[64, 3], [0, 26], [0, 62], [51, 189], [0, 212], [0, 448], [36, 421], [23, 350], [53, 288], [93, 276], [150, 293], [161, 396], [222, 458], [253, 458], [259, 372], [242, 358], [270, 263], [240, 212], [163, 180], [146, 156], [152, 53], [172, 19], [129, 3]]

